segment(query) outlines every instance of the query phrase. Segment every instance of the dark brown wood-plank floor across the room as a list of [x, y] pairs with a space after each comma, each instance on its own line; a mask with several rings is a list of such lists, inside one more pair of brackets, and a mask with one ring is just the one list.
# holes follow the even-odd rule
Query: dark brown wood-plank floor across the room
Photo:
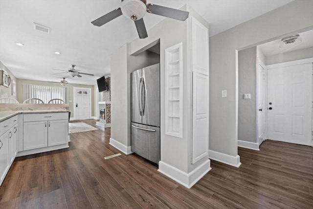
[[313, 208], [312, 147], [266, 140], [260, 151], [238, 148], [240, 168], [211, 161], [187, 189], [136, 155], [104, 160], [120, 153], [110, 129], [70, 138], [67, 149], [16, 158], [0, 188], [1, 209]]

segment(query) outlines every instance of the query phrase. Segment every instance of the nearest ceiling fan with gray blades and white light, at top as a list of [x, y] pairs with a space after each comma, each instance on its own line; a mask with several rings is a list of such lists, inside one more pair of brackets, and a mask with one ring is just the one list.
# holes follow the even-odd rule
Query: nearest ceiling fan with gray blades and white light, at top
[[147, 0], [122, 0], [121, 7], [103, 15], [91, 23], [96, 26], [102, 26], [123, 14], [134, 21], [139, 38], [144, 39], [148, 37], [148, 34], [142, 18], [147, 12], [180, 21], [185, 21], [189, 16], [189, 12], [152, 3], [147, 4]]

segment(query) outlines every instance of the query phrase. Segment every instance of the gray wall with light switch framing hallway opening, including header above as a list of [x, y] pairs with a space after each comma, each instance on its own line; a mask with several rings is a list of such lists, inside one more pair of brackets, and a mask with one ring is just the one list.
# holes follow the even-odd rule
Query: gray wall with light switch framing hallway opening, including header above
[[311, 0], [292, 1], [210, 38], [210, 150], [237, 155], [236, 50], [312, 29], [312, 8]]

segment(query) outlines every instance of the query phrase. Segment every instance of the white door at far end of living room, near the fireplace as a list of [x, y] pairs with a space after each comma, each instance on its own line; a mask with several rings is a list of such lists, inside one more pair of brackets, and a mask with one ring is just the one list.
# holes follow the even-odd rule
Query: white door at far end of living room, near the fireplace
[[89, 113], [90, 113], [90, 103], [89, 103], [89, 94], [90, 91], [86, 89], [76, 89], [76, 108], [75, 110], [75, 119], [77, 120], [84, 120], [89, 119]]

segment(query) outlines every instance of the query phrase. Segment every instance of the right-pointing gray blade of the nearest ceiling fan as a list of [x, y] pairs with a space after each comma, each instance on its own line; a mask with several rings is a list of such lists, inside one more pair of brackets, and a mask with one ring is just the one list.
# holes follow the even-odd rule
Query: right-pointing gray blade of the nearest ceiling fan
[[164, 17], [173, 18], [180, 21], [185, 21], [189, 16], [189, 12], [165, 6], [159, 6], [151, 3], [147, 4], [147, 11], [152, 14], [161, 15]]

